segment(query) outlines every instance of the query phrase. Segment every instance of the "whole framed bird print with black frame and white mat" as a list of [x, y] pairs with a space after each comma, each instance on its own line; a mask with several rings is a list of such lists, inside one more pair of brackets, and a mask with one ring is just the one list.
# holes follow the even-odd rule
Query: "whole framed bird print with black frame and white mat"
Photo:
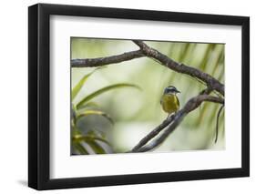
[[249, 176], [250, 19], [28, 8], [28, 186]]

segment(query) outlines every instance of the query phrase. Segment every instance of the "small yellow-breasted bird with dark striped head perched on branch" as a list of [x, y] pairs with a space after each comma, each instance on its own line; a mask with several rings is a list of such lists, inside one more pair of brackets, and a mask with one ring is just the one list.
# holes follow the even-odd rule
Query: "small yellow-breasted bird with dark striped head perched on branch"
[[179, 98], [176, 96], [177, 93], [180, 92], [176, 87], [169, 86], [165, 88], [164, 94], [161, 97], [161, 106], [169, 116], [179, 110]]

